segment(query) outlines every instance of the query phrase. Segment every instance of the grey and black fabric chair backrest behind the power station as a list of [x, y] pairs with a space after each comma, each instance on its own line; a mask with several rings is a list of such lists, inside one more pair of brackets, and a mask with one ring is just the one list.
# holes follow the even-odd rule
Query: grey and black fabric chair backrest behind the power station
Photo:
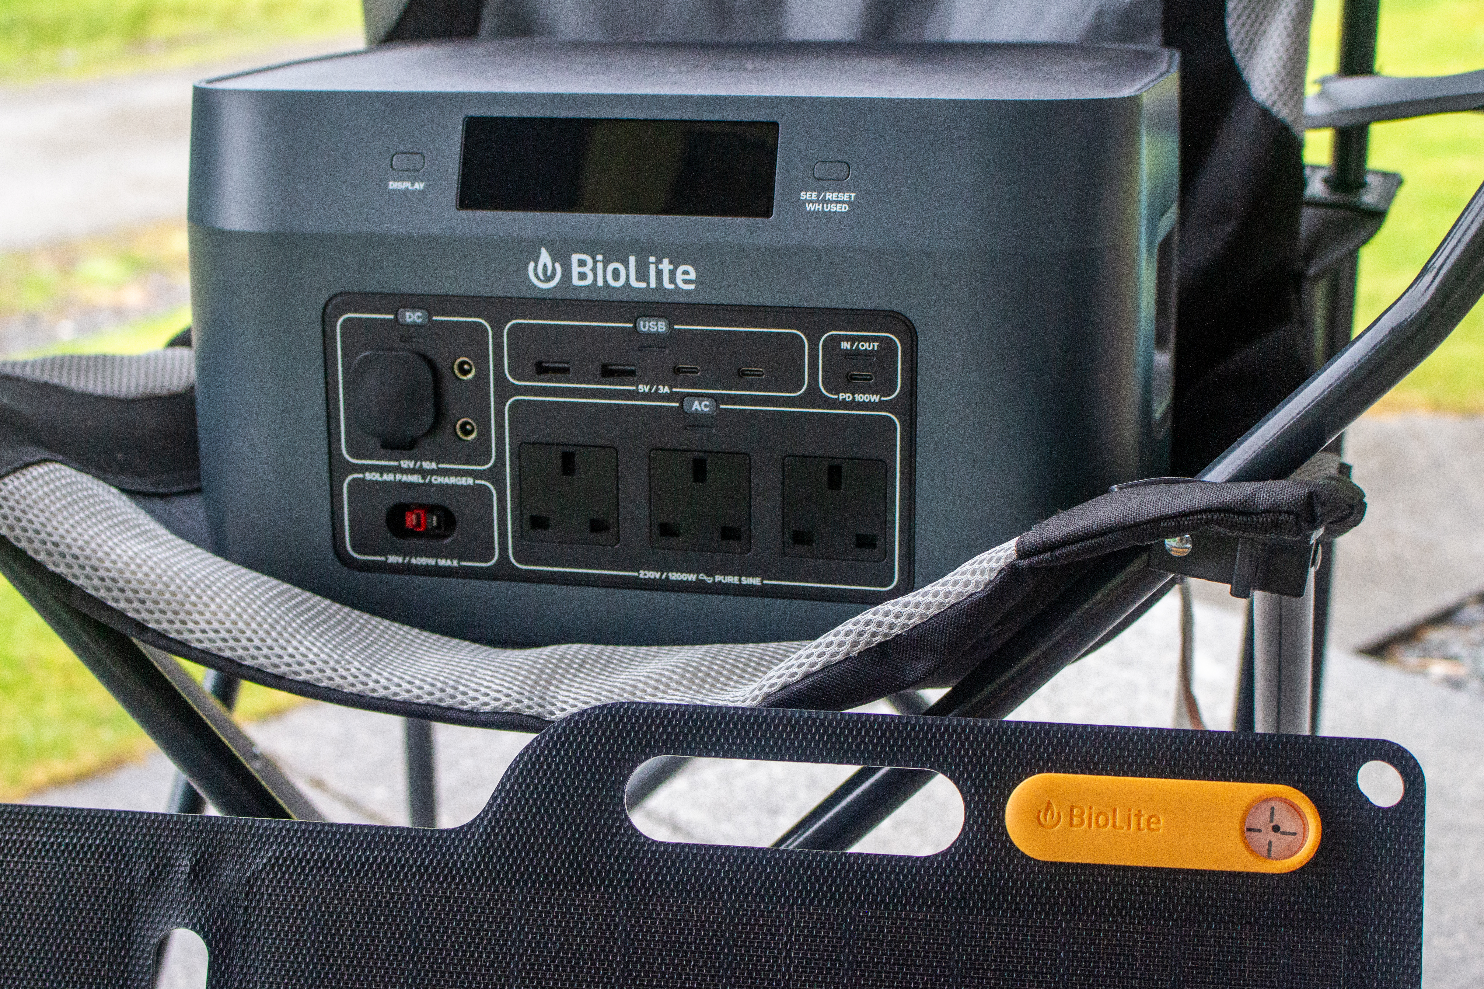
[[362, 0], [367, 40], [1083, 42], [1181, 53], [1171, 473], [1307, 377], [1300, 302], [1312, 0]]

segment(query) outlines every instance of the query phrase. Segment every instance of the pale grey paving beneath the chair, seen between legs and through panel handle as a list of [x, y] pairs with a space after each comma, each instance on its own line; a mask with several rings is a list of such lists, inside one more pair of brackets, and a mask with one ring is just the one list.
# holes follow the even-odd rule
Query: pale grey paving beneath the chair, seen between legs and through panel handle
[[[1238, 615], [1198, 605], [1196, 694], [1214, 727], [1230, 725]], [[1101, 652], [1077, 663], [1033, 697], [1017, 718], [1036, 721], [1169, 725], [1174, 709], [1177, 611], [1172, 598]], [[1426, 979], [1429, 989], [1462, 989], [1484, 971], [1484, 765], [1478, 727], [1484, 692], [1457, 691], [1350, 652], [1334, 655], [1325, 679], [1324, 731], [1393, 738], [1428, 774]], [[252, 727], [254, 737], [332, 818], [407, 823], [401, 722], [324, 704], [306, 704]], [[527, 735], [436, 728], [439, 824], [469, 820], [525, 744]], [[846, 771], [761, 767], [742, 774], [708, 765], [687, 770], [637, 814], [653, 838], [706, 836], [766, 844]], [[139, 765], [58, 787], [40, 804], [159, 810], [171, 770], [156, 756]], [[957, 833], [956, 792], [925, 790], [862, 850], [922, 854]]]

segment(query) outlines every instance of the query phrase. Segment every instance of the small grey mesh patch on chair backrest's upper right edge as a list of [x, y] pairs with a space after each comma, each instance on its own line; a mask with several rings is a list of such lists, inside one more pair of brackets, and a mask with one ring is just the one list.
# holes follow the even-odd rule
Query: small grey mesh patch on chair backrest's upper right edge
[[1300, 138], [1310, 21], [1313, 0], [1226, 0], [1226, 42], [1252, 99]]

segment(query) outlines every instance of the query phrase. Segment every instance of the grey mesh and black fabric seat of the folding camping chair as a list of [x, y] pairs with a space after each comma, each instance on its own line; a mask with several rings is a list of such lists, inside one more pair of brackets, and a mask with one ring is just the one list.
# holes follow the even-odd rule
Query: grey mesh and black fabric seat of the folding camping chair
[[1364, 492], [1334, 477], [1160, 482], [1058, 513], [813, 642], [496, 648], [378, 618], [202, 549], [203, 520], [183, 526], [190, 513], [165, 504], [199, 485], [190, 356], [172, 347], [0, 363], [0, 535], [28, 558], [16, 565], [56, 593], [82, 592], [79, 608], [166, 652], [416, 718], [536, 730], [608, 701], [853, 707], [951, 684], [1092, 558], [1205, 531], [1333, 538], [1365, 512]]

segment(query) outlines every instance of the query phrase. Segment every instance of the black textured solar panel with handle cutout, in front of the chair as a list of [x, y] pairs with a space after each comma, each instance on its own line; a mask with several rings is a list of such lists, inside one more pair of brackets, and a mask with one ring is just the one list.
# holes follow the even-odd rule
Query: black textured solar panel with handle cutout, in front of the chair
[[[963, 833], [922, 857], [654, 842], [660, 753], [929, 767]], [[1356, 789], [1370, 759], [1407, 786]], [[1034, 773], [1284, 783], [1324, 841], [1285, 875], [1036, 861]], [[537, 737], [453, 830], [0, 807], [9, 985], [145, 986], [202, 934], [220, 986], [1417, 986], [1423, 778], [1388, 741], [613, 704]]]

